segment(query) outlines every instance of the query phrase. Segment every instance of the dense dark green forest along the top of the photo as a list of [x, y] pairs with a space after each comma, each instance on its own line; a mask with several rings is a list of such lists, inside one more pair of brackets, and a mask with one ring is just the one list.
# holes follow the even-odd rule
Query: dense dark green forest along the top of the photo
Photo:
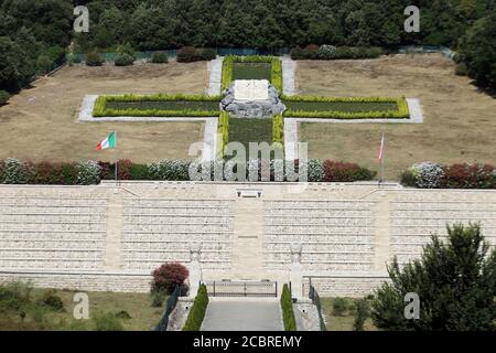
[[[89, 9], [89, 33], [72, 31], [77, 4]], [[411, 4], [421, 10], [420, 33], [403, 30], [403, 10]], [[83, 53], [111, 51], [122, 43], [139, 51], [308, 44], [457, 50], [461, 39], [471, 47], [485, 44], [478, 43], [478, 34], [489, 33], [495, 55], [496, 33], [487, 20], [494, 12], [494, 0], [2, 0], [0, 89], [21, 88], [60, 60], [73, 40]], [[466, 34], [471, 31], [476, 35]], [[467, 63], [475, 62], [473, 55], [464, 56]]]

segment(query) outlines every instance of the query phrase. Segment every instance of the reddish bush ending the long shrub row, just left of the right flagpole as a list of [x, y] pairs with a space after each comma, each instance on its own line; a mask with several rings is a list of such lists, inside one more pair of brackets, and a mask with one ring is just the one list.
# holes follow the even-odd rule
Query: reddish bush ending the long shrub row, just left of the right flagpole
[[326, 160], [324, 165], [325, 182], [356, 182], [374, 180], [377, 172], [362, 168], [355, 163]]

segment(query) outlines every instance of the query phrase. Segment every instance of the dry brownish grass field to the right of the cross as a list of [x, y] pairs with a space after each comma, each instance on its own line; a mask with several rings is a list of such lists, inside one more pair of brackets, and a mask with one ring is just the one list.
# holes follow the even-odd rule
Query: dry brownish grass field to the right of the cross
[[416, 162], [496, 164], [496, 99], [455, 75], [441, 54], [395, 55], [365, 61], [300, 61], [300, 95], [406, 96], [419, 98], [424, 122], [312, 124], [299, 126], [310, 158], [357, 162], [378, 171], [377, 151], [386, 135], [386, 178], [399, 180]]

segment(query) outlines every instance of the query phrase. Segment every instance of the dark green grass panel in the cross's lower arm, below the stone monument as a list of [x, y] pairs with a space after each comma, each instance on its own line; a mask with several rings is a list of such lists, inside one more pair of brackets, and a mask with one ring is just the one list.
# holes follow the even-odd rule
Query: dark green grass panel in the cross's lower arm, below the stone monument
[[272, 143], [272, 119], [229, 119], [229, 142], [241, 142], [247, 152], [249, 142]]

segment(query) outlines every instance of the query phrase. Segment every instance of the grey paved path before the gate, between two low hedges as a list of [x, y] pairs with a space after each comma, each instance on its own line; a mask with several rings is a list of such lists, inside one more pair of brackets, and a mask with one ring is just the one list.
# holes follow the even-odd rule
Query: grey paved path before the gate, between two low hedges
[[202, 331], [283, 331], [279, 300], [211, 298]]

